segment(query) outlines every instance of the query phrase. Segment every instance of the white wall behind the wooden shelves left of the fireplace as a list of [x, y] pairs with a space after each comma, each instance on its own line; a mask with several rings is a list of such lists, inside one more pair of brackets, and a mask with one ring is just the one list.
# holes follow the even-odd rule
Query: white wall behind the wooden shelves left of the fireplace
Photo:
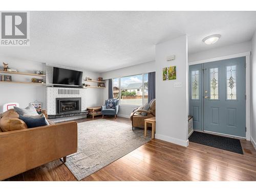
[[[17, 59], [13, 57], [0, 56], [0, 70], [3, 70], [3, 62], [9, 63], [9, 67], [17, 69], [18, 72], [34, 73], [34, 70], [45, 72], [45, 65], [41, 62]], [[1, 74], [4, 75], [4, 74]], [[35, 76], [6, 74], [12, 76], [12, 81], [31, 81]], [[41, 78], [41, 77], [35, 77]], [[0, 82], [0, 113], [3, 112], [3, 104], [7, 102], [18, 102], [20, 107], [28, 106], [30, 102], [42, 102], [45, 107], [45, 86], [36, 84], [16, 84]]]

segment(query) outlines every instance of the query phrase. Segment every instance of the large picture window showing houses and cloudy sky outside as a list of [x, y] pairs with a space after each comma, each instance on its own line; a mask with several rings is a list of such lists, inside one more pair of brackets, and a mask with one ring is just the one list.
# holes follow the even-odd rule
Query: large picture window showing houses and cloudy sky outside
[[113, 97], [119, 98], [120, 104], [143, 105], [147, 103], [147, 78], [147, 73], [114, 78]]

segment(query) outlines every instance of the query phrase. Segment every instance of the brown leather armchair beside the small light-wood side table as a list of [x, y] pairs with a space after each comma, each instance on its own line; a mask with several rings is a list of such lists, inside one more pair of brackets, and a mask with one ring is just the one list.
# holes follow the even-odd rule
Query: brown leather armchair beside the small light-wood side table
[[[150, 109], [148, 111], [136, 108], [131, 113], [130, 119], [132, 121], [132, 127], [144, 128], [144, 120], [156, 116], [156, 99], [153, 99], [150, 103]], [[144, 112], [147, 115], [143, 116], [141, 113]], [[150, 126], [150, 125], [149, 125]]]

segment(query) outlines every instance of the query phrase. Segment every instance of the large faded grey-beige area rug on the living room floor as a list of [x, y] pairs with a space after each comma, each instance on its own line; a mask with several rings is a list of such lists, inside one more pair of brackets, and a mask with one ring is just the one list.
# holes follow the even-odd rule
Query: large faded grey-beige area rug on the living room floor
[[65, 163], [77, 180], [132, 152], [151, 140], [151, 131], [144, 137], [143, 129], [132, 125], [97, 119], [78, 123], [78, 150]]

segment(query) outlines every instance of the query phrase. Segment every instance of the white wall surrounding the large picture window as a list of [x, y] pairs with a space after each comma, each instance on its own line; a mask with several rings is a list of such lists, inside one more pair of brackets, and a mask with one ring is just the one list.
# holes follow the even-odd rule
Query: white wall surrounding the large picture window
[[[135, 66], [131, 66], [131, 67], [108, 71], [108, 72], [102, 73], [101, 76], [103, 77], [103, 79], [112, 79], [112, 78], [124, 77], [124, 76], [129, 76], [129, 75], [149, 73], [149, 72], [154, 72], [154, 71], [156, 71], [155, 61], [151, 61], [151, 62], [145, 62], [145, 63], [141, 63], [139, 65], [135, 65]], [[104, 103], [105, 100], [109, 98], [109, 94], [108, 94], [109, 81], [105, 80], [105, 82], [106, 82], [105, 83], [106, 88], [104, 89], [102, 103]], [[130, 114], [136, 107], [137, 106], [121, 104], [119, 106], [118, 116], [130, 118]]]

